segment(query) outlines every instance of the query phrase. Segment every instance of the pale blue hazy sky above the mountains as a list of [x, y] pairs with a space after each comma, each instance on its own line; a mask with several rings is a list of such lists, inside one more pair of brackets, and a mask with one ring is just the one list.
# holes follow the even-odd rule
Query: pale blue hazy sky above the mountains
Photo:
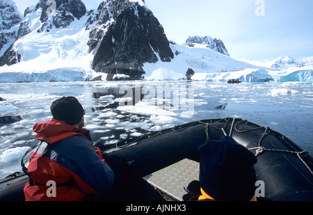
[[[13, 0], [24, 14], [39, 0]], [[101, 0], [83, 0], [97, 8]], [[230, 56], [270, 61], [313, 56], [312, 0], [145, 0], [166, 36], [178, 44], [188, 36], [223, 40]]]

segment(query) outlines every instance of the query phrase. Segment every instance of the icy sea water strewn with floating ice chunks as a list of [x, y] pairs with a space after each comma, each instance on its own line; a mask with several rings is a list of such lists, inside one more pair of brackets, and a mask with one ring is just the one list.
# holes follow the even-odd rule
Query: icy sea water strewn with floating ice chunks
[[0, 83], [0, 179], [21, 172], [33, 125], [50, 105], [74, 96], [94, 143], [110, 144], [187, 122], [242, 118], [284, 134], [313, 155], [313, 86], [300, 82], [207, 81]]

